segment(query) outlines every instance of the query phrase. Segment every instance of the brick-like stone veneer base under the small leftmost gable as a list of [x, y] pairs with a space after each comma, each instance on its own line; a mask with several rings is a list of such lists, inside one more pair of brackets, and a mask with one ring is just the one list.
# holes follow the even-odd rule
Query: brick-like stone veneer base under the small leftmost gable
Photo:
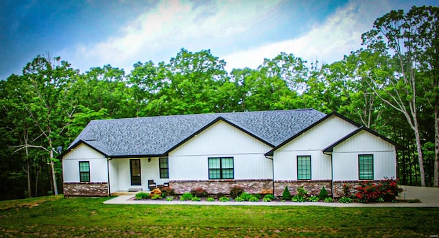
[[108, 196], [107, 182], [64, 182], [64, 196]]

